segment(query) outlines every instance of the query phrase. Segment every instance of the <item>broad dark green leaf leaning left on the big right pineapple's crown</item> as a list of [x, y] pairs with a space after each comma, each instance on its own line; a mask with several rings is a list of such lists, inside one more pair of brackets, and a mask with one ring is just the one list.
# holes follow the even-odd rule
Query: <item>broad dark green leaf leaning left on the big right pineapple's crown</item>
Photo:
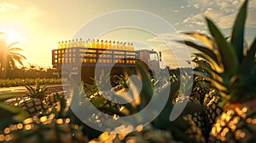
[[224, 65], [224, 75], [225, 77], [230, 78], [234, 76], [238, 70], [236, 51], [233, 49], [230, 43], [226, 41], [212, 20], [207, 19], [207, 25], [217, 44], [217, 49]]

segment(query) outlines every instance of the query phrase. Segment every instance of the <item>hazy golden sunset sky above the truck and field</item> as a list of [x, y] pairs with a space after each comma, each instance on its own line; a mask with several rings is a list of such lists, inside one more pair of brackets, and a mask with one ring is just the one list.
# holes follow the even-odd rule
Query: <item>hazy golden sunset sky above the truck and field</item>
[[[229, 36], [230, 28], [243, 0], [0, 0], [0, 31], [9, 34], [8, 43], [19, 41], [26, 63], [38, 66], [51, 66], [51, 50], [57, 49], [57, 43], [72, 39], [78, 31], [86, 28], [86, 24], [104, 14], [116, 10], [135, 9], [148, 12], [160, 17], [172, 26], [173, 32], [158, 33], [166, 39], [180, 39], [183, 31], [199, 31], [208, 34], [204, 18], [213, 20], [224, 36]], [[256, 0], [249, 1], [247, 11], [246, 40], [252, 43], [256, 33]], [[125, 19], [126, 17], [121, 19]], [[129, 19], [127, 17], [127, 19]], [[109, 21], [119, 21], [119, 18]], [[142, 18], [143, 20], [143, 18]], [[104, 25], [110, 24], [108, 20], [95, 25], [101, 30]], [[154, 22], [153, 22], [154, 23]], [[152, 25], [152, 23], [150, 22]], [[146, 25], [145, 25], [146, 26]], [[161, 27], [155, 24], [157, 29]], [[126, 36], [125, 36], [125, 34]], [[88, 36], [83, 37], [94, 38]], [[147, 47], [163, 52], [165, 63], [162, 65], [176, 66], [172, 63], [175, 58], [171, 53], [181, 56], [183, 49], [172, 49], [166, 52], [166, 43], [150, 31], [141, 29], [123, 28], [115, 29], [98, 36], [109, 40], [132, 40], [136, 49]], [[175, 43], [173, 43], [176, 46]], [[167, 46], [168, 47], [168, 46]], [[178, 47], [178, 45], [177, 45]], [[193, 50], [189, 50], [190, 53]], [[177, 52], [177, 53], [176, 53]], [[177, 60], [177, 59], [176, 59]], [[186, 61], [186, 59], [184, 59]]]

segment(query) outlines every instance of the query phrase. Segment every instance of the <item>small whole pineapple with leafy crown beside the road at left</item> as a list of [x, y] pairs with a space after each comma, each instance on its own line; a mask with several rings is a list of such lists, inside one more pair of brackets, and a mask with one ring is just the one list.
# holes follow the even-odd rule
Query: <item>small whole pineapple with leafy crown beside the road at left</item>
[[40, 83], [36, 81], [36, 88], [33, 89], [32, 86], [26, 86], [29, 92], [29, 97], [26, 100], [21, 100], [18, 106], [24, 109], [31, 116], [40, 115], [42, 113], [48, 112], [48, 107], [44, 104], [43, 99], [47, 91], [46, 85], [40, 87]]

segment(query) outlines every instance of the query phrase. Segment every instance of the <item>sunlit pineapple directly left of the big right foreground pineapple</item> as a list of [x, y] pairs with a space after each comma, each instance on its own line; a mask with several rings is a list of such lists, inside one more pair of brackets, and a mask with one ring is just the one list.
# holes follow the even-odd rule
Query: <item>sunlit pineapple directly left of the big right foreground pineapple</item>
[[[206, 60], [194, 60], [197, 63], [201, 63], [202, 66], [209, 67]], [[204, 72], [208, 74], [200, 66], [195, 67], [196, 72]], [[191, 119], [201, 129], [201, 133], [204, 136], [204, 140], [208, 141], [209, 134], [212, 129], [212, 124], [215, 123], [216, 118], [223, 112], [222, 107], [219, 106], [220, 98], [218, 91], [212, 86], [212, 83], [206, 78], [195, 75], [191, 98], [195, 98], [200, 101], [202, 106], [205, 106], [207, 110], [201, 112], [195, 112], [192, 114]]]

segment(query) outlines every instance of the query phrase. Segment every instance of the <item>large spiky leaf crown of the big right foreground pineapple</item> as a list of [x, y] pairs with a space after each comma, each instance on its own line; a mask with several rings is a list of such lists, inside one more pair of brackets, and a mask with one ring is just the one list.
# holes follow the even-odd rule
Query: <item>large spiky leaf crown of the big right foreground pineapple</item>
[[[210, 66], [195, 61], [205, 72], [195, 72], [195, 74], [207, 77], [219, 90], [225, 101], [250, 100], [255, 97], [256, 75], [252, 72], [256, 66], [255, 51], [256, 39], [250, 48], [244, 45], [244, 26], [247, 16], [247, 0], [241, 6], [236, 17], [235, 24], [229, 42], [218, 27], [207, 19], [207, 25], [212, 37], [207, 37], [201, 33], [185, 33], [195, 37], [206, 46], [185, 41], [189, 47], [198, 49], [201, 54], [195, 54], [207, 60]], [[243, 52], [246, 51], [246, 54]]]

